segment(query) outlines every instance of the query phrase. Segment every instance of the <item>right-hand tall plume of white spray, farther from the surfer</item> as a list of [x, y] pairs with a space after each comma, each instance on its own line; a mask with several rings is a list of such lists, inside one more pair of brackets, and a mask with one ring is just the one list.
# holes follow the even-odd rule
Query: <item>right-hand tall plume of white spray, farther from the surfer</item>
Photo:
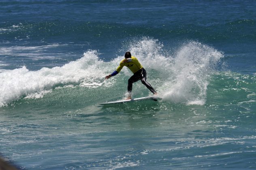
[[221, 52], [207, 45], [195, 41], [184, 44], [170, 68], [174, 79], [165, 88], [164, 100], [203, 105], [210, 76], [221, 57]]

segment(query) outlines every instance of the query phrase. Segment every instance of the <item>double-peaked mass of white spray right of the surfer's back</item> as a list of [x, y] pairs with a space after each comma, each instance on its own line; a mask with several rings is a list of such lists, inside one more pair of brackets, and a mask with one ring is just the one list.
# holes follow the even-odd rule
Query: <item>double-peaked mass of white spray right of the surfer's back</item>
[[164, 101], [205, 104], [210, 76], [223, 54], [195, 41], [184, 43], [175, 55], [163, 47], [158, 40], [144, 38], [132, 43], [128, 51], [143, 64], [148, 77], [158, 74], [149, 82], [157, 87]]

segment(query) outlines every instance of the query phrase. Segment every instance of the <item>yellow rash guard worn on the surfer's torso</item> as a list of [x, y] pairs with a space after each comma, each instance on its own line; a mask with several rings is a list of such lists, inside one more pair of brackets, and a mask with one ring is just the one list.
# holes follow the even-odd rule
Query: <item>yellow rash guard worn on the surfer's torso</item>
[[[124, 59], [126, 60], [126, 59]], [[117, 67], [117, 72], [120, 72], [122, 70], [122, 68], [124, 66], [128, 67], [133, 73], [141, 70], [141, 68], [143, 68], [143, 66], [139, 63], [138, 59], [135, 58], [134, 56], [130, 57], [130, 60], [128, 60], [128, 62], [124, 62], [124, 60], [122, 60], [119, 64], [119, 66]]]

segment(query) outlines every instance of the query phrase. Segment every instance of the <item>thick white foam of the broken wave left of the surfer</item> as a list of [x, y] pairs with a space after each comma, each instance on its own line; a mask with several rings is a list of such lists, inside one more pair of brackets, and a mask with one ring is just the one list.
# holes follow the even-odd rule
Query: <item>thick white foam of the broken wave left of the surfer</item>
[[9, 104], [13, 100], [27, 96], [40, 98], [50, 92], [54, 85], [81, 83], [87, 86], [101, 86], [107, 64], [98, 59], [96, 51], [87, 51], [84, 56], [62, 67], [42, 68], [30, 71], [25, 66], [0, 73], [0, 106]]

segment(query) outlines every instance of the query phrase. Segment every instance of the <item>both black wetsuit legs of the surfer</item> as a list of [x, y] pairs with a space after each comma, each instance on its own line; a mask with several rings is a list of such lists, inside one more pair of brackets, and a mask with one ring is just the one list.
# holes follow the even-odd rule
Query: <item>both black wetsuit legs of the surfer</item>
[[147, 72], [144, 68], [141, 68], [141, 70], [135, 72], [132, 77], [130, 77], [130, 79], [128, 80], [128, 92], [132, 92], [132, 83], [135, 83], [137, 81], [141, 80], [141, 83], [143, 83], [143, 85], [145, 85], [153, 94], [156, 93], [155, 89], [149, 84], [147, 83]]

